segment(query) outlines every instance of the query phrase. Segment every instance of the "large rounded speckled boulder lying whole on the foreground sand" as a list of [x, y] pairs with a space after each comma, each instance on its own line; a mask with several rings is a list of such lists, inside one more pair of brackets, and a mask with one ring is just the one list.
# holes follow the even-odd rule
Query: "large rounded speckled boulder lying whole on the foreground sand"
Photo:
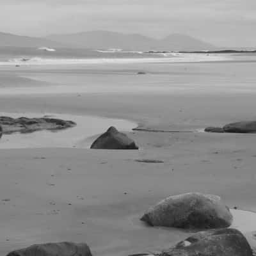
[[232, 224], [233, 217], [220, 196], [186, 193], [162, 200], [141, 220], [162, 227], [223, 228]]

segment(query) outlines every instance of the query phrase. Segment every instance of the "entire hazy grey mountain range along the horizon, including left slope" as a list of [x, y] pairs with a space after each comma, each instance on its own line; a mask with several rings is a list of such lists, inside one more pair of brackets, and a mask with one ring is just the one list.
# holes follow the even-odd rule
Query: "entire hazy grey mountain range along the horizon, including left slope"
[[212, 44], [191, 36], [173, 34], [157, 40], [140, 34], [88, 31], [44, 38], [0, 33], [0, 47], [70, 47], [83, 49], [124, 49], [129, 51], [204, 51], [216, 50]]

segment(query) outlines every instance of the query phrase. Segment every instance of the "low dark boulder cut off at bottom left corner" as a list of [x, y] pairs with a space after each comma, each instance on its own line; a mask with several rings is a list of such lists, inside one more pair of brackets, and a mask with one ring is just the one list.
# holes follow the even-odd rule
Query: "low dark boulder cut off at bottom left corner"
[[92, 256], [92, 253], [85, 243], [62, 242], [35, 244], [10, 252], [7, 256]]

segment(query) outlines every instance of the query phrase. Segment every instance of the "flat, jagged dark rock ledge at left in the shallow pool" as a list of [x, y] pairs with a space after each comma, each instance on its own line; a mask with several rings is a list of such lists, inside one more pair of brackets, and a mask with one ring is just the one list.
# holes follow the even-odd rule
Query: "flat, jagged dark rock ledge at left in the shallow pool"
[[[67, 129], [69, 127], [74, 127], [75, 122], [61, 120], [57, 118], [12, 118], [10, 116], [0, 116], [0, 125], [3, 128], [3, 133], [13, 133], [13, 132], [34, 132], [40, 130], [60, 130]], [[1, 133], [1, 132], [0, 132]]]

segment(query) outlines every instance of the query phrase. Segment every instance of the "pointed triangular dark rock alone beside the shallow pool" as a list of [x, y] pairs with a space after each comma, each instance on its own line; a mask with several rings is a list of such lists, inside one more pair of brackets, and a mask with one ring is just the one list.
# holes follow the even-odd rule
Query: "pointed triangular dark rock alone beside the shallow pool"
[[115, 127], [110, 127], [108, 131], [100, 135], [92, 143], [91, 148], [97, 149], [138, 149], [135, 142], [126, 134], [118, 132]]

